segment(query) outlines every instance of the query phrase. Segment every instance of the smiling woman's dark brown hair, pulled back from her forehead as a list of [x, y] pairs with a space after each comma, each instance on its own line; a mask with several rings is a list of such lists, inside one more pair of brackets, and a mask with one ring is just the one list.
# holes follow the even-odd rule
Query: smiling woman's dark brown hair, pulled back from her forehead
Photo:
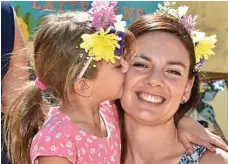
[[[184, 103], [180, 104], [179, 109], [177, 110], [174, 119], [175, 124], [186, 114], [192, 111], [199, 99], [199, 78], [198, 75], [193, 73], [196, 59], [195, 59], [195, 50], [193, 41], [191, 39], [190, 34], [185, 29], [185, 27], [178, 21], [173, 18], [167, 16], [159, 16], [159, 15], [145, 15], [133, 22], [130, 27], [128, 28], [130, 32], [137, 38], [141, 35], [146, 35], [149, 32], [154, 31], [161, 31], [171, 33], [176, 36], [183, 45], [185, 46], [186, 50], [189, 54], [190, 60], [190, 69], [188, 78], [191, 79], [195, 77], [195, 81], [192, 87], [191, 96], [189, 100]], [[124, 163], [126, 154], [127, 154], [127, 137], [126, 137], [126, 129], [124, 123], [124, 111], [121, 107], [120, 100], [116, 101], [116, 105], [119, 109], [119, 116], [120, 116], [120, 126], [121, 126], [121, 163]]]

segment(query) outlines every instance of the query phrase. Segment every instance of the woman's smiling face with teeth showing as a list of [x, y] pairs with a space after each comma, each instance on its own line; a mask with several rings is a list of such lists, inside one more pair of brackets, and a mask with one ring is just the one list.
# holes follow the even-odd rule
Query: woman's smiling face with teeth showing
[[136, 53], [129, 61], [122, 106], [146, 124], [168, 121], [191, 94], [188, 51], [173, 34], [150, 32], [137, 38]]

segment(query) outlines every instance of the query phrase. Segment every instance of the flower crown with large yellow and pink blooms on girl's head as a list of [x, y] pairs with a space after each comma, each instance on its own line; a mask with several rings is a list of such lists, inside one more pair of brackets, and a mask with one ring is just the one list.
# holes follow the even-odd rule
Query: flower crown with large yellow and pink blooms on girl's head
[[80, 48], [85, 49], [88, 61], [77, 78], [81, 78], [92, 60], [115, 63], [120, 59], [124, 44], [125, 21], [122, 15], [116, 15], [117, 2], [94, 1], [88, 11], [92, 17], [91, 25], [96, 29], [93, 34], [83, 34]]

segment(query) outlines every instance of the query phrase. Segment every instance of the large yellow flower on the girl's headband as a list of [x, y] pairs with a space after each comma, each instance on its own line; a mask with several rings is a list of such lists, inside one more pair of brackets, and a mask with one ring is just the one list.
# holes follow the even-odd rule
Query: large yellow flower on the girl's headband
[[121, 38], [115, 34], [108, 34], [110, 30], [111, 28], [106, 31], [101, 29], [94, 34], [83, 34], [82, 39], [84, 42], [80, 47], [88, 51], [88, 55], [94, 57], [96, 61], [103, 59], [114, 64], [115, 59], [117, 59], [114, 52], [116, 48], [120, 48], [118, 41]]

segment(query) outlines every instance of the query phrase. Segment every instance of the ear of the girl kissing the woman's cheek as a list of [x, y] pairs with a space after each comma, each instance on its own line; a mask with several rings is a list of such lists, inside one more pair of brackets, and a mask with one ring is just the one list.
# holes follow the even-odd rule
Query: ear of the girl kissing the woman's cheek
[[93, 81], [79, 78], [74, 82], [74, 91], [83, 97], [90, 97], [93, 93]]

